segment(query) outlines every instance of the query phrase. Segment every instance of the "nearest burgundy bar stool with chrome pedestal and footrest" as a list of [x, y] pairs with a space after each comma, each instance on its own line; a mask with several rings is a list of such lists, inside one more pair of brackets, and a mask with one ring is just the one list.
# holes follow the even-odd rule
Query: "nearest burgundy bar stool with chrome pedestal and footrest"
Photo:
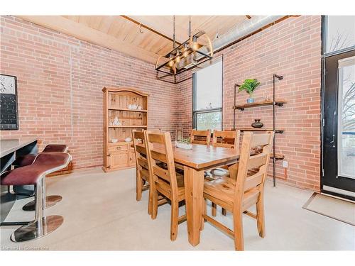
[[1, 174], [1, 184], [8, 186], [33, 185], [35, 187], [35, 219], [31, 222], [4, 222], [1, 226], [18, 226], [11, 234], [13, 242], [41, 238], [57, 229], [64, 218], [58, 215], [44, 216], [45, 176], [67, 167], [71, 155], [68, 153], [40, 153], [31, 165], [19, 167]]

